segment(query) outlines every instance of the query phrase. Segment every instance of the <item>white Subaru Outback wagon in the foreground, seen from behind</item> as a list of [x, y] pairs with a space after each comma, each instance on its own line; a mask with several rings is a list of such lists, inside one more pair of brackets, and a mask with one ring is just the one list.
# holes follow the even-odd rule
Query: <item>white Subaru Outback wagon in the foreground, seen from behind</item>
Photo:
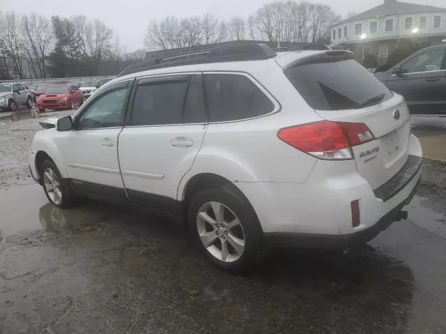
[[348, 248], [406, 218], [422, 149], [403, 97], [350, 52], [242, 45], [128, 67], [36, 133], [30, 168], [57, 207], [93, 194], [183, 216], [241, 271], [271, 244]]

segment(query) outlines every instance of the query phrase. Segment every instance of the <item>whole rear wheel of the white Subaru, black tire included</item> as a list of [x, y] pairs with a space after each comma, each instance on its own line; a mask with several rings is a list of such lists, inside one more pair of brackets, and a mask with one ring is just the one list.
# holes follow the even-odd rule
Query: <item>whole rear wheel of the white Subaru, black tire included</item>
[[[221, 219], [215, 211], [220, 212]], [[187, 222], [204, 257], [217, 268], [246, 273], [263, 260], [259, 219], [249, 202], [232, 186], [216, 185], [199, 191], [190, 201]]]

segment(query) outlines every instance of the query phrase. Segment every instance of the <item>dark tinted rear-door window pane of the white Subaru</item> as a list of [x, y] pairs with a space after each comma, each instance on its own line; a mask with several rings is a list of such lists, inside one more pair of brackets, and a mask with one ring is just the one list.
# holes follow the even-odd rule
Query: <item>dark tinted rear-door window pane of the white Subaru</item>
[[139, 81], [130, 125], [172, 125], [183, 122], [189, 76]]

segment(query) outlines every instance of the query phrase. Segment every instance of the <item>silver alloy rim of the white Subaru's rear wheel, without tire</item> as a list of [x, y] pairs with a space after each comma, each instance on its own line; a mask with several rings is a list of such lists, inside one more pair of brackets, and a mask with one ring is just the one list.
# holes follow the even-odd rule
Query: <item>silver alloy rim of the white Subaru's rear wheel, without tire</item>
[[234, 262], [245, 251], [245, 234], [237, 216], [220, 202], [206, 202], [197, 214], [203, 246], [222, 262]]

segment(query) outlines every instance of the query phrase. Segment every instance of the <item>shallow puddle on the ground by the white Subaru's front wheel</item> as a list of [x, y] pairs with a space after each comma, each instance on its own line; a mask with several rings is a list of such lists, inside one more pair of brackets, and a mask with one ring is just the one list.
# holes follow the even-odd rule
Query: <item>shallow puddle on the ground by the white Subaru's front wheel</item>
[[31, 230], [66, 232], [85, 230], [109, 216], [100, 202], [86, 202], [73, 209], [51, 205], [38, 184], [0, 189], [0, 235]]

